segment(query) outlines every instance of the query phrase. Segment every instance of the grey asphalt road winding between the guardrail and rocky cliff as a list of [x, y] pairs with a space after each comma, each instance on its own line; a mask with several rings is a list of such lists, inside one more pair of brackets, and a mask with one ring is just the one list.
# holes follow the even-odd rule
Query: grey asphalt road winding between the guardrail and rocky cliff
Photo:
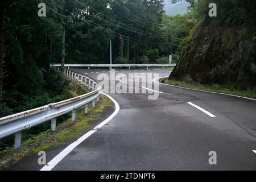
[[[95, 80], [110, 74], [75, 72]], [[159, 77], [170, 72], [118, 71]], [[119, 113], [53, 170], [256, 170], [256, 101], [170, 85], [159, 85], [159, 92], [158, 100], [109, 94]], [[216, 151], [217, 165], [209, 164], [210, 151]]]

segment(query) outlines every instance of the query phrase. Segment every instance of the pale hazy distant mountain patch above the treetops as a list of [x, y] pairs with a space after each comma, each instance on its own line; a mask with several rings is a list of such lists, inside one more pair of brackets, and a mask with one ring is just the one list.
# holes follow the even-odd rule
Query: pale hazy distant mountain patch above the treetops
[[164, 0], [164, 10], [166, 14], [174, 16], [177, 14], [184, 15], [188, 12], [189, 3], [187, 1], [177, 2], [172, 4], [170, 0]]

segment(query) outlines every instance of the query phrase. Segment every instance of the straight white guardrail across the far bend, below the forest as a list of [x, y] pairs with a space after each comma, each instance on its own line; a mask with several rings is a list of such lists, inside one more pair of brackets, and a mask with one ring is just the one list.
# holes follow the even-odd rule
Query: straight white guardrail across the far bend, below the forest
[[[50, 64], [51, 67], [61, 67], [61, 64]], [[90, 69], [90, 67], [107, 67], [107, 68], [135, 68], [135, 67], [146, 67], [147, 69], [149, 67], [175, 67], [176, 64], [65, 64], [65, 68], [72, 68], [72, 67], [87, 67]]]

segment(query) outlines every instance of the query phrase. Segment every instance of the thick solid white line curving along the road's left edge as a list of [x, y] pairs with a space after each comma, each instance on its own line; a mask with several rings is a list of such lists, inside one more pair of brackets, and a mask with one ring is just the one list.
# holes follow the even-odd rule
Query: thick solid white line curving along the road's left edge
[[63, 151], [60, 152], [60, 154], [56, 155], [55, 158], [53, 158], [46, 166], [44, 166], [40, 171], [51, 171], [61, 160], [65, 158], [74, 148], [79, 146], [82, 142], [84, 142], [85, 139], [90, 137], [90, 135], [94, 134], [98, 129], [100, 129], [102, 126], [106, 125], [111, 119], [115, 117], [119, 113], [120, 107], [117, 101], [114, 100], [114, 98], [110, 97], [108, 94], [102, 93], [105, 96], [109, 97], [110, 100], [112, 100], [115, 104], [115, 111], [110, 117], [108, 117], [105, 121], [101, 122], [100, 125], [94, 127], [94, 129], [90, 130], [88, 133], [83, 135], [81, 138], [77, 139], [75, 142], [70, 144], [67, 148], [65, 148]]

